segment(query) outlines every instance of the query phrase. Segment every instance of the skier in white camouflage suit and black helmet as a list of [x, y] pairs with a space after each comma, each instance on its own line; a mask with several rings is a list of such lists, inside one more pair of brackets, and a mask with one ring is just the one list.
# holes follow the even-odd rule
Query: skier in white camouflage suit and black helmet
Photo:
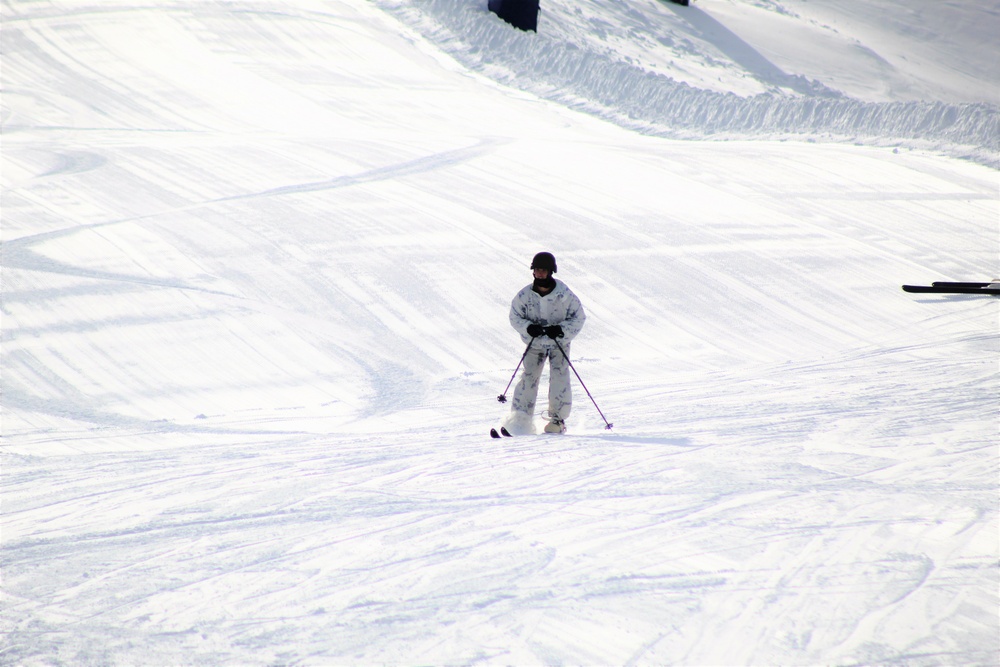
[[[514, 387], [514, 399], [504, 426], [511, 433], [534, 433], [532, 413], [538, 397], [545, 360], [549, 361], [549, 423], [546, 433], [565, 433], [566, 418], [573, 407], [570, 388], [570, 342], [583, 328], [587, 319], [580, 299], [556, 272], [556, 258], [550, 252], [540, 252], [531, 260], [534, 280], [517, 293], [510, 304], [510, 325], [528, 346], [524, 355], [524, 370]], [[560, 350], [560, 347], [562, 348]]]

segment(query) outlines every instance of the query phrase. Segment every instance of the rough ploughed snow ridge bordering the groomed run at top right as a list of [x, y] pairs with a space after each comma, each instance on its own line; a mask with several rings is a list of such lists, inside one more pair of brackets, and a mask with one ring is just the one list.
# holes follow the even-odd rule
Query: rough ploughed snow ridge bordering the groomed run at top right
[[499, 83], [674, 139], [778, 138], [933, 147], [996, 166], [1000, 108], [865, 102], [801, 76], [741, 97], [695, 88], [544, 31], [511, 29], [485, 3], [378, 0], [463, 66]]

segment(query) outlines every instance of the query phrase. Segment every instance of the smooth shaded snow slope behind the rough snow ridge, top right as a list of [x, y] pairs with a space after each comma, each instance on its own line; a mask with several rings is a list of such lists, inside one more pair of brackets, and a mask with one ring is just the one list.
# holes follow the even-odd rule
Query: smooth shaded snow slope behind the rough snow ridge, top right
[[[471, 52], [493, 55], [500, 47], [498, 60], [519, 36], [488, 30], [496, 19], [484, 3], [379, 2], [415, 10], [413, 18], [422, 16], [426, 28], [437, 22], [439, 30], [451, 29], [454, 42]], [[866, 102], [996, 105], [998, 30], [1000, 8], [990, 3], [696, 0], [680, 7], [667, 0], [547, 0], [539, 35], [520, 41], [537, 52], [561, 51], [564, 59], [579, 49], [593, 59], [742, 96], [800, 89]], [[438, 41], [445, 42], [445, 34], [437, 32]]]

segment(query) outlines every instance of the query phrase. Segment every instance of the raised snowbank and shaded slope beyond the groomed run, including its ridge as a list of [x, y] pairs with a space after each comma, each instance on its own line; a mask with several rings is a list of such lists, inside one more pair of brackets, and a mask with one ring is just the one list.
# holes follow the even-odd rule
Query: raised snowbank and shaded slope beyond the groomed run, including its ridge
[[[463, 65], [630, 129], [933, 147], [996, 166], [1000, 71], [990, 40], [1000, 13], [990, 6], [889, 3], [856, 14], [844, 3], [555, 0], [536, 35], [468, 0], [378, 1]], [[943, 36], [924, 27], [935, 11], [953, 15], [938, 24]], [[917, 62], [896, 67], [814, 14], [834, 23], [846, 15], [856, 34], [885, 45], [878, 51], [919, 42]], [[941, 54], [949, 50], [985, 55], [966, 62]], [[928, 53], [941, 62], [924, 67]]]

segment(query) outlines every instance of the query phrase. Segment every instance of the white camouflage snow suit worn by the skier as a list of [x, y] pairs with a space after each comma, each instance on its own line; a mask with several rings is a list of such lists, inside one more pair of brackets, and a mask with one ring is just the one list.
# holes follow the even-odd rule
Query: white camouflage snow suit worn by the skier
[[[580, 333], [587, 316], [580, 299], [566, 284], [561, 280], [555, 282], [555, 288], [545, 296], [535, 292], [531, 285], [518, 292], [510, 304], [510, 325], [521, 334], [521, 340], [527, 345], [532, 340], [528, 335], [529, 324], [540, 324], [543, 327], [558, 324], [563, 330], [563, 337], [558, 339], [559, 345], [568, 355], [570, 342]], [[511, 413], [505, 421], [512, 432], [532, 432], [531, 415], [535, 410], [538, 384], [542, 379], [546, 359], [549, 360], [548, 417], [565, 421], [569, 416], [573, 406], [569, 360], [563, 357], [555, 341], [548, 336], [539, 336], [531, 343], [524, 357], [524, 370], [514, 387]]]

